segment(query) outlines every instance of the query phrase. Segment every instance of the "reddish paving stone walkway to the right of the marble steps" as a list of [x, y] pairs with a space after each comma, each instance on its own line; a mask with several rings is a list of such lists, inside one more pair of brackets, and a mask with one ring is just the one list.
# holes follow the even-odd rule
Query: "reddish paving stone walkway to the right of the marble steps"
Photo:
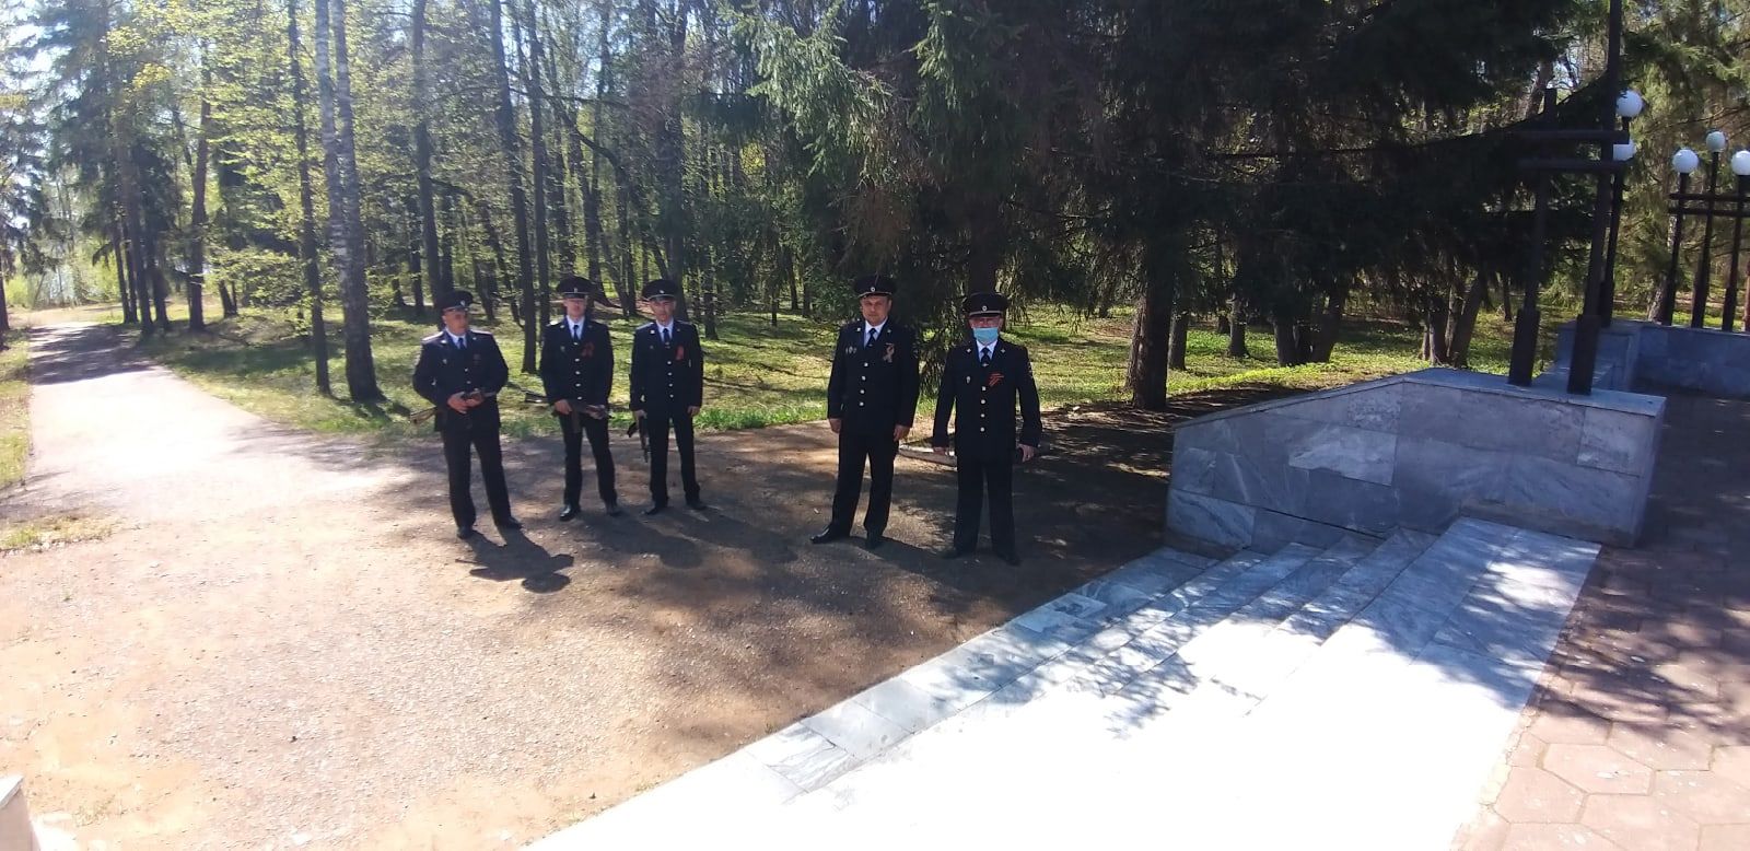
[[1670, 397], [1647, 539], [1600, 557], [1454, 847], [1750, 849], [1750, 403]]

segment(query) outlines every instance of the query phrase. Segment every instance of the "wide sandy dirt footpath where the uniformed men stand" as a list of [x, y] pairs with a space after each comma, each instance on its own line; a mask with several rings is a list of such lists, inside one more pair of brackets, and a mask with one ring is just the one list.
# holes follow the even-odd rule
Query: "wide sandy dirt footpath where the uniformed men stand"
[[469, 545], [436, 436], [289, 433], [107, 326], [33, 333], [0, 520], [116, 531], [0, 557], [0, 774], [80, 847], [514, 847], [1160, 543], [1174, 417], [1066, 411], [1017, 475], [1020, 569], [934, 555], [954, 476], [920, 461], [889, 546], [810, 546], [824, 424], [704, 438], [710, 511], [656, 518], [618, 434], [626, 515], [586, 482], [570, 524], [556, 441], [508, 443], [525, 534]]

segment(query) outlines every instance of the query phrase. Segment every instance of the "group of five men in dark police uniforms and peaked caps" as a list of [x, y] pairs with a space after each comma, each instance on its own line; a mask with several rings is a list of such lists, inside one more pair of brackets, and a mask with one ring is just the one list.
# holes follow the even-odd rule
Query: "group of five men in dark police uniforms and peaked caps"
[[[854, 282], [861, 320], [838, 329], [833, 371], [826, 385], [826, 417], [838, 434], [838, 482], [833, 513], [812, 543], [830, 543], [850, 536], [863, 469], [870, 475], [870, 504], [863, 515], [868, 550], [886, 541], [887, 513], [892, 499], [892, 466], [900, 443], [912, 431], [919, 394], [917, 333], [889, 320], [894, 284], [884, 275]], [[632, 334], [632, 415], [634, 433], [644, 431], [649, 445], [651, 504], [646, 515], [668, 506], [668, 434], [674, 433], [681, 455], [681, 487], [686, 504], [704, 511], [698, 471], [693, 464], [693, 417], [705, 403], [705, 352], [698, 329], [674, 319], [681, 287], [656, 278], [644, 285], [651, 322]], [[590, 306], [604, 299], [592, 280], [570, 275], [560, 282], [565, 315], [541, 336], [541, 382], [544, 403], [560, 420], [565, 443], [565, 496], [558, 518], [570, 520], [581, 511], [583, 440], [595, 455], [597, 492], [607, 515], [618, 517], [614, 455], [607, 436], [607, 394], [614, 380], [614, 345], [607, 326], [597, 322]], [[443, 436], [444, 462], [450, 469], [450, 511], [457, 538], [476, 536], [474, 501], [469, 494], [472, 462], [486, 485], [492, 520], [500, 531], [522, 529], [511, 515], [509, 489], [499, 450], [497, 394], [509, 382], [509, 366], [499, 343], [485, 331], [469, 327], [472, 296], [455, 291], [439, 305], [443, 331], [427, 336], [413, 368], [413, 385], [436, 406], [436, 429]], [[1017, 457], [1031, 461], [1040, 447], [1040, 394], [1032, 380], [1027, 350], [1001, 338], [1008, 299], [998, 292], [973, 292], [961, 303], [971, 341], [952, 348], [936, 396], [931, 448], [947, 454], [952, 447], [959, 478], [954, 543], [945, 559], [971, 553], [978, 543], [984, 496], [990, 497], [990, 550], [1010, 564], [1018, 564], [1012, 501]], [[956, 415], [957, 411], [957, 415]], [[1017, 427], [1018, 415], [1018, 427]], [[954, 417], [956, 429], [948, 431]]]

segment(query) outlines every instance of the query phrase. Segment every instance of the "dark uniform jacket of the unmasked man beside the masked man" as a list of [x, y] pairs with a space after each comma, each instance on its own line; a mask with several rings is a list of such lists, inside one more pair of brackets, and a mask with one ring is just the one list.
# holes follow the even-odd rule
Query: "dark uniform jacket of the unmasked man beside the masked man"
[[891, 434], [917, 417], [917, 334], [891, 319], [868, 343], [868, 322], [838, 329], [833, 376], [826, 382], [826, 417], [858, 434]]

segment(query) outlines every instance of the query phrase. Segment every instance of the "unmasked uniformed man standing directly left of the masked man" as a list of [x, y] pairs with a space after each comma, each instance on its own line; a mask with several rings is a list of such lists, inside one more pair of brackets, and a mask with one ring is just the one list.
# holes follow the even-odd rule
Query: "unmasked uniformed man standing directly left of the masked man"
[[833, 518], [812, 543], [850, 534], [863, 490], [863, 462], [870, 468], [870, 508], [863, 515], [863, 546], [882, 545], [892, 497], [892, 461], [917, 413], [917, 334], [889, 322], [892, 280], [868, 275], [852, 284], [863, 319], [838, 329], [833, 375], [826, 383], [826, 422], [838, 434], [838, 487]]

